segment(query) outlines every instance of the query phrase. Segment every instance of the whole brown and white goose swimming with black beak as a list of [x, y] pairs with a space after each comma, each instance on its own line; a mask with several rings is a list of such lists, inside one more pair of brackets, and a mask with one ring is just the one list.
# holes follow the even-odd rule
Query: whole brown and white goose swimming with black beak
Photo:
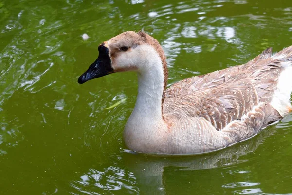
[[78, 82], [134, 71], [138, 96], [124, 130], [140, 153], [201, 154], [255, 136], [292, 110], [292, 46], [264, 50], [244, 65], [186, 78], [166, 89], [168, 72], [159, 42], [124, 32], [98, 47], [99, 56]]

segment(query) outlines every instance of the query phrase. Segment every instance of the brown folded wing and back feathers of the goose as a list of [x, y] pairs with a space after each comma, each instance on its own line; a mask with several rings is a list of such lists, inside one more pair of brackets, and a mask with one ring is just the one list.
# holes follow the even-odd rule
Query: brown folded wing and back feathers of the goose
[[[282, 61], [270, 58], [271, 52], [268, 48], [244, 65], [175, 83], [165, 92], [164, 117], [204, 117], [222, 130], [260, 102], [269, 104], [282, 71]], [[265, 111], [274, 121], [280, 119], [273, 108]], [[258, 114], [257, 119], [264, 118]]]

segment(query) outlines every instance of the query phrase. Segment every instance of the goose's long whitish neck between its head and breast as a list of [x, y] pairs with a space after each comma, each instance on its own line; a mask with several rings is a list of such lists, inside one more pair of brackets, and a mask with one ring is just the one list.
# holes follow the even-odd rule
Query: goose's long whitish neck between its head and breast
[[148, 45], [141, 51], [147, 51], [141, 61], [138, 74], [138, 96], [130, 119], [154, 122], [163, 119], [162, 96], [164, 93], [164, 66], [160, 55]]

